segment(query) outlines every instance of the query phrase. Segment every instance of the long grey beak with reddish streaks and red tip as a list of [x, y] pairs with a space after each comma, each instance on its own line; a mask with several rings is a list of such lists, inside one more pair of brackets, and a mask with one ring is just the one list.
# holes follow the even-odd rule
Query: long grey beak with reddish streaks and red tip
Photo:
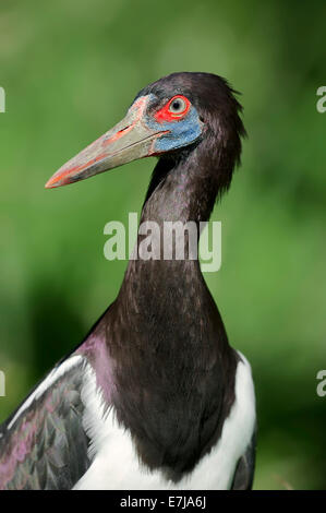
[[143, 115], [147, 104], [148, 96], [138, 98], [122, 121], [55, 172], [46, 188], [67, 186], [153, 155], [154, 141], [166, 131], [145, 124]]

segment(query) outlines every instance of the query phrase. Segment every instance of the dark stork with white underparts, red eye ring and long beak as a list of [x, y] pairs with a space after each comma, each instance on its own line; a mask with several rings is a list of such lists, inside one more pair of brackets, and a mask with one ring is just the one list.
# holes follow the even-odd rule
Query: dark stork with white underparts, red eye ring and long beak
[[[153, 156], [141, 223], [198, 226], [229, 189], [244, 136], [227, 80], [176, 72], [46, 188]], [[143, 241], [140, 230], [135, 251]], [[251, 366], [229, 344], [198, 259], [158, 253], [129, 260], [116, 300], [1, 425], [0, 489], [252, 488]]]

